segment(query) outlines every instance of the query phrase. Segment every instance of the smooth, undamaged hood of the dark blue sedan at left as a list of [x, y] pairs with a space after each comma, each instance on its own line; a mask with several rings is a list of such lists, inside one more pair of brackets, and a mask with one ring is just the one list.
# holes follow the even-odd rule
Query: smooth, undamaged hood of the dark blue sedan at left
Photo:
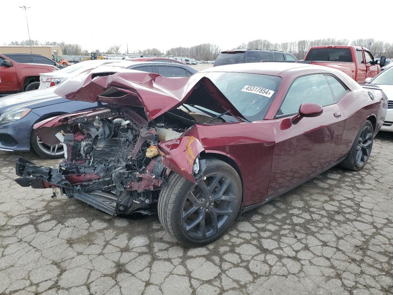
[[55, 88], [56, 87], [50, 87], [48, 89], [32, 90], [0, 98], [0, 114], [19, 107], [35, 109], [37, 107], [68, 101], [54, 94], [53, 90], [55, 90]]

